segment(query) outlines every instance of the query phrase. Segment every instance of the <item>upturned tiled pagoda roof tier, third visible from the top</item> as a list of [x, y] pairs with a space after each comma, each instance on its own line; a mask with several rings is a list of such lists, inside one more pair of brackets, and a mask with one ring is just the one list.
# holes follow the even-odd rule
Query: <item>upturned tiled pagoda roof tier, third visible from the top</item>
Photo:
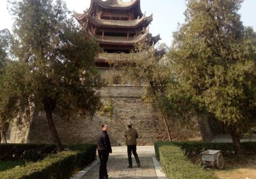
[[129, 40], [127, 40], [127, 37], [120, 37], [120, 36], [104, 36], [104, 39], [102, 39], [102, 36], [100, 35], [93, 35], [91, 31], [88, 31], [89, 35], [98, 43], [104, 44], [104, 45], [134, 45], [135, 43], [141, 42], [142, 40], [146, 40], [147, 36], [149, 35], [149, 30], [142, 35], [136, 36], [136, 37], [130, 37]]

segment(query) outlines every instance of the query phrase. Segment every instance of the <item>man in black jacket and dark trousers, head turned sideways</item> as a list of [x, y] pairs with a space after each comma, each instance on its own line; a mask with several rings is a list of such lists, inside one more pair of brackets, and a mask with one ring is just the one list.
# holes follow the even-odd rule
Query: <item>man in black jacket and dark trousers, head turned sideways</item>
[[102, 130], [99, 133], [97, 149], [100, 158], [99, 179], [108, 179], [107, 162], [109, 153], [112, 153], [110, 140], [108, 137], [108, 123], [102, 124]]

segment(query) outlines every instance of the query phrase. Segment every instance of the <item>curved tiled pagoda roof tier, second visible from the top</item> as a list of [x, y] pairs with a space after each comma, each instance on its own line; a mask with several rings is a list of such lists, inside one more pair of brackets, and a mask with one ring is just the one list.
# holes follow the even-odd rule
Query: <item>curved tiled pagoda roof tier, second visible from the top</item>
[[95, 17], [92, 17], [90, 13], [76, 13], [74, 12], [74, 17], [77, 21], [83, 21], [83, 22], [91, 22], [94, 26], [97, 27], [112, 27], [112, 28], [136, 28], [138, 26], [141, 26], [141, 24], [145, 23], [147, 26], [152, 22], [153, 20], [153, 14], [146, 17], [143, 15], [140, 19], [136, 20], [105, 20], [105, 19], [97, 19]]

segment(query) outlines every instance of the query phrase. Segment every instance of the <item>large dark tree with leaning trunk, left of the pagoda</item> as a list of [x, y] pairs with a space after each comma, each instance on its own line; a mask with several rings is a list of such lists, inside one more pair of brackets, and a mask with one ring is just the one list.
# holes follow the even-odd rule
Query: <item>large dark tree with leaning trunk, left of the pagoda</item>
[[92, 117], [98, 108], [103, 82], [93, 68], [99, 49], [73, 19], [68, 19], [62, 1], [22, 0], [12, 3], [15, 17], [12, 52], [29, 65], [31, 95], [44, 109], [57, 150], [62, 144], [52, 119], [57, 113], [65, 120], [73, 116]]

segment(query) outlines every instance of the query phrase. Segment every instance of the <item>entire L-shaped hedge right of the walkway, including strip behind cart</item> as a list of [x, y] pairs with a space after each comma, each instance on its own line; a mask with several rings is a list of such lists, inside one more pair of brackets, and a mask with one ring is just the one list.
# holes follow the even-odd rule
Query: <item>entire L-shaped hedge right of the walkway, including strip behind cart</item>
[[[255, 154], [256, 142], [241, 143], [243, 153]], [[160, 160], [168, 178], [200, 179], [216, 178], [199, 164], [189, 161], [188, 155], [195, 156], [205, 150], [221, 150], [224, 155], [234, 155], [232, 143], [202, 142], [159, 142], [155, 143], [156, 157]]]

